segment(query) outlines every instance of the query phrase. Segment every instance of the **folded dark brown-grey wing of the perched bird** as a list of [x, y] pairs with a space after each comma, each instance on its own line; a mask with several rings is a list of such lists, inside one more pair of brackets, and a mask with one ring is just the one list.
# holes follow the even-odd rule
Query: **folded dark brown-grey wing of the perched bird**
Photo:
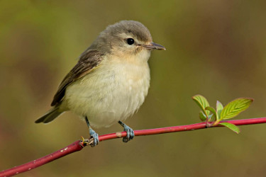
[[67, 86], [72, 84], [74, 81], [77, 81], [77, 79], [82, 78], [89, 72], [92, 72], [92, 69], [94, 69], [94, 67], [96, 67], [103, 59], [102, 56], [103, 54], [96, 50], [87, 50], [82, 53], [81, 57], [79, 58], [79, 62], [77, 62], [73, 69], [71, 69], [67, 76], [65, 76], [65, 78], [62, 80], [57, 93], [55, 93], [51, 105], [53, 106], [61, 103], [65, 96], [65, 89], [67, 89]]

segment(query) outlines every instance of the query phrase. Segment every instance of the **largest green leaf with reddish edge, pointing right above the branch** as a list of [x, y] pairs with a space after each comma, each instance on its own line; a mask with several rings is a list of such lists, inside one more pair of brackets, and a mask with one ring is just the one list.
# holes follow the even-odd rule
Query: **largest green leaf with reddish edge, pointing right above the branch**
[[239, 113], [248, 109], [253, 98], [238, 98], [228, 103], [221, 111], [221, 120], [234, 118]]

